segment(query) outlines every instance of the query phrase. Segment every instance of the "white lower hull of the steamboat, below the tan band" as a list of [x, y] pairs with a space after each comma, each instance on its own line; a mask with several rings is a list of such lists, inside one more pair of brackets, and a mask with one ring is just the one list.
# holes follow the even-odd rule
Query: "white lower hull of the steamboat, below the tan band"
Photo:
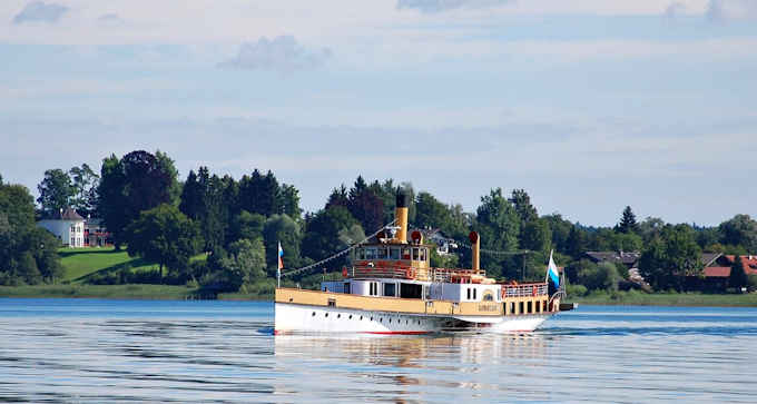
[[531, 332], [551, 314], [449, 316], [275, 304], [274, 333], [429, 334], [444, 331]]

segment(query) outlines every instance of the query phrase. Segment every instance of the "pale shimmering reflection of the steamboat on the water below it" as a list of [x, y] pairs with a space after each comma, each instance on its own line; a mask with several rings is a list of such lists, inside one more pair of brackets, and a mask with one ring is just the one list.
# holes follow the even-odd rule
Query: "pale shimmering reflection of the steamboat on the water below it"
[[[352, 390], [357, 398], [391, 393], [392, 400], [407, 396], [456, 395], [485, 391], [509, 393], [517, 385], [509, 377], [529, 377], [545, 372], [548, 345], [544, 335], [440, 334], [430, 336], [324, 336], [283, 335], [274, 338], [277, 367], [319, 368], [332, 364], [332, 377], [371, 380], [374, 390]], [[297, 365], [295, 365], [295, 363]], [[336, 365], [335, 365], [336, 364]], [[304, 371], [306, 372], [306, 371]], [[299, 380], [294, 377], [295, 380]], [[322, 386], [288, 383], [276, 385], [291, 394]], [[392, 390], [392, 387], [395, 387]], [[432, 388], [423, 388], [432, 387]], [[480, 393], [479, 393], [480, 394]], [[343, 394], [336, 397], [347, 398]]]

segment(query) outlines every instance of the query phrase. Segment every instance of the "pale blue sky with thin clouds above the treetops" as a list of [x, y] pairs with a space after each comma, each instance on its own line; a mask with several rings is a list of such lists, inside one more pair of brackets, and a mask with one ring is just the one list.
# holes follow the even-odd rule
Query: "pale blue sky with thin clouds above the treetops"
[[474, 211], [757, 216], [757, 0], [3, 0], [0, 175], [160, 149]]

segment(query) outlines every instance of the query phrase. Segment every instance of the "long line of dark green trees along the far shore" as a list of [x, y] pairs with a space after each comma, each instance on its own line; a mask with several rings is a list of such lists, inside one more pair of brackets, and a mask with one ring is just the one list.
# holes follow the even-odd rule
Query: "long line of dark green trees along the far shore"
[[[6, 211], [9, 208], [3, 206], [10, 205], [24, 206], [30, 221], [14, 226], [26, 226], [31, 231], [35, 207], [28, 190], [4, 187], [16, 187], [17, 194], [24, 190], [26, 195], [0, 205], [0, 234], [3, 217], [10, 217], [10, 210]], [[655, 217], [638, 221], [632, 209], [626, 207], [616, 226], [593, 227], [571, 223], [557, 213], [540, 215], [524, 189], [505, 194], [502, 188], [493, 188], [481, 197], [474, 213], [466, 213], [461, 205], [444, 204], [429, 191], [416, 193], [410, 183], [366, 181], [358, 176], [350, 187], [335, 187], [323, 208], [304, 213], [298, 190], [281, 184], [272, 171], [255, 169], [237, 180], [198, 167], [180, 180], [166, 154], [144, 150], [120, 158], [106, 157], [99, 174], [86, 164], [67, 171], [45, 171], [38, 186], [36, 216], [52, 216], [72, 206], [82, 216], [100, 217], [112, 234], [116, 248], [126, 247], [130, 255], [158, 264], [160, 282], [194, 283], [209, 290], [260, 292], [273, 288], [278, 243], [285, 252], [286, 268], [323, 259], [391, 221], [399, 189], [410, 194], [409, 219], [413, 226], [439, 229], [455, 240], [465, 240], [469, 231], [476, 230], [482, 248], [502, 252], [481, 257], [482, 267], [498, 278], [542, 279], [544, 263], [554, 250], [556, 260], [566, 267], [571, 284], [583, 285], [584, 289], [615, 290], [629, 287], [627, 268], [611, 263], [593, 264], [584, 253], [640, 252], [639, 269], [652, 288], [680, 290], [686, 276], [701, 276], [701, 252], [735, 255], [757, 252], [757, 221], [748, 215], [702, 227], [666, 224]], [[19, 273], [21, 262], [28, 268], [27, 253], [36, 257], [33, 243], [20, 245], [31, 247], [26, 250], [18, 247], [14, 253], [0, 256], [3, 273]], [[201, 253], [207, 259], [193, 259]], [[11, 255], [12, 265], [11, 258], [6, 258]], [[466, 266], [470, 258], [465, 248], [445, 256], [434, 252], [432, 265]], [[325, 269], [338, 270], [345, 264], [330, 262]], [[58, 273], [42, 262], [36, 260], [36, 265], [39, 277], [24, 275], [18, 282], [55, 282]], [[4, 269], [11, 267], [13, 272]], [[292, 282], [307, 279], [304, 274]], [[125, 280], [134, 277], [91, 279]]]

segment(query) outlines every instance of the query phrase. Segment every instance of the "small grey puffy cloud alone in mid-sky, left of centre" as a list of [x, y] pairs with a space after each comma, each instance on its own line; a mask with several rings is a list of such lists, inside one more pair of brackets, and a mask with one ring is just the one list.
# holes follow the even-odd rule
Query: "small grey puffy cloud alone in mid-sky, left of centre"
[[294, 37], [282, 36], [268, 40], [260, 37], [257, 42], [245, 42], [239, 48], [239, 53], [220, 67], [248, 69], [248, 70], [274, 70], [279, 72], [293, 72], [309, 70], [321, 67], [332, 57], [328, 48], [309, 50], [297, 43]]

